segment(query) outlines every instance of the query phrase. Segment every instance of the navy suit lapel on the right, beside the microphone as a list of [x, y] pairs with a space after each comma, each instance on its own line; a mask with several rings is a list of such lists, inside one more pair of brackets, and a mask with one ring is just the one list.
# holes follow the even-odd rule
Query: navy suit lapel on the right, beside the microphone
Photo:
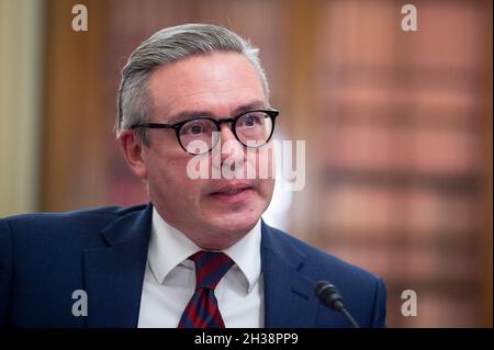
[[314, 327], [318, 304], [314, 281], [303, 270], [305, 256], [262, 223], [265, 327]]

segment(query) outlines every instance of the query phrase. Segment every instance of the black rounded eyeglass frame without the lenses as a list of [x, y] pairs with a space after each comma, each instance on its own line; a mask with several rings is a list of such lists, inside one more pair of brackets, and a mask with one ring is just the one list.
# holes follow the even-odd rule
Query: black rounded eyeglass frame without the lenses
[[[248, 113], [255, 113], [255, 112], [262, 112], [262, 113], [267, 114], [267, 115], [271, 118], [272, 128], [271, 128], [271, 133], [269, 134], [268, 138], [266, 139], [266, 142], [265, 142], [262, 145], [259, 145], [259, 146], [249, 146], [249, 145], [244, 144], [244, 143], [238, 138], [236, 125], [237, 125], [237, 122], [238, 122], [238, 120], [239, 120], [240, 117], [243, 117], [244, 115], [246, 115], [246, 114], [248, 114]], [[187, 148], [182, 145], [181, 140], [180, 140], [180, 131], [181, 131], [182, 126], [186, 125], [187, 123], [189, 123], [189, 122], [191, 122], [191, 121], [197, 121], [197, 120], [209, 120], [209, 121], [213, 122], [213, 123], [216, 125], [216, 131], [217, 131], [217, 132], [221, 132], [221, 126], [222, 126], [223, 123], [232, 123], [229, 129], [232, 131], [232, 134], [234, 134], [235, 138], [236, 138], [243, 146], [249, 147], [249, 148], [259, 148], [259, 147], [265, 146], [265, 145], [266, 145], [267, 143], [269, 143], [269, 140], [271, 139], [272, 134], [274, 133], [274, 123], [276, 123], [276, 118], [277, 118], [277, 116], [278, 116], [279, 114], [280, 114], [280, 111], [278, 111], [278, 110], [272, 110], [272, 109], [270, 109], [270, 110], [252, 110], [252, 111], [246, 111], [246, 112], [243, 112], [243, 113], [240, 113], [240, 114], [238, 114], [237, 116], [234, 116], [234, 117], [227, 117], [227, 118], [221, 118], [221, 120], [215, 120], [215, 118], [212, 118], [212, 117], [209, 117], [209, 116], [195, 116], [195, 117], [192, 117], [192, 118], [189, 118], [189, 120], [184, 120], [184, 121], [181, 121], [181, 122], [178, 122], [178, 123], [173, 123], [173, 124], [166, 124], [166, 123], [143, 123], [143, 124], [133, 124], [133, 125], [131, 125], [128, 128], [130, 128], [130, 129], [135, 129], [135, 128], [138, 128], [138, 127], [144, 127], [144, 128], [172, 128], [172, 129], [175, 129], [175, 134], [176, 134], [176, 136], [177, 136], [177, 140], [178, 140], [180, 147], [182, 147], [182, 149], [183, 149], [186, 153], [188, 153], [188, 154], [190, 154], [190, 155], [197, 156], [197, 155], [204, 155], [204, 154], [210, 153], [210, 151], [216, 146], [217, 140], [214, 142], [214, 145], [212, 145], [211, 148], [207, 149], [207, 151], [205, 151], [205, 153], [202, 153], [202, 154], [192, 154], [192, 153], [189, 153], [189, 151], [187, 150]]]

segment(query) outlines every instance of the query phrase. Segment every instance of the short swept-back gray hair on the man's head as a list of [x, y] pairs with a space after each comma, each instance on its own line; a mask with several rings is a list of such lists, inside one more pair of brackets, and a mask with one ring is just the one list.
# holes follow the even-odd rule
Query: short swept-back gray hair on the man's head
[[[154, 69], [180, 59], [209, 55], [214, 52], [234, 52], [244, 55], [257, 70], [266, 100], [268, 80], [259, 61], [259, 49], [232, 31], [212, 24], [183, 24], [164, 29], [144, 41], [128, 57], [122, 70], [117, 93], [115, 132], [134, 124], [148, 123], [149, 94], [147, 80]], [[137, 137], [148, 145], [146, 128], [136, 129]]]

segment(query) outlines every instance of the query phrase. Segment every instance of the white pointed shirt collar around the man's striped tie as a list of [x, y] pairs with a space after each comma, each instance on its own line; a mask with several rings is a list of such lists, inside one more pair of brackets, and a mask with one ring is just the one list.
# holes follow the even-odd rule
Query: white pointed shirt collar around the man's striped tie
[[[240, 270], [247, 292], [250, 292], [259, 281], [261, 272], [260, 240], [261, 225], [259, 219], [256, 226], [239, 241], [223, 250]], [[199, 246], [165, 222], [153, 207], [148, 261], [158, 283], [162, 284], [171, 270], [199, 250], [201, 250]]]

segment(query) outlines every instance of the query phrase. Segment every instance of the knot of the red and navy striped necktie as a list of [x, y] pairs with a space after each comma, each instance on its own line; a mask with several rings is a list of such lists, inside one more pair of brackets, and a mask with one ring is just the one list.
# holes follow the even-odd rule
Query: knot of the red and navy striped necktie
[[195, 289], [214, 290], [234, 261], [223, 252], [198, 251], [190, 258], [195, 263]]

